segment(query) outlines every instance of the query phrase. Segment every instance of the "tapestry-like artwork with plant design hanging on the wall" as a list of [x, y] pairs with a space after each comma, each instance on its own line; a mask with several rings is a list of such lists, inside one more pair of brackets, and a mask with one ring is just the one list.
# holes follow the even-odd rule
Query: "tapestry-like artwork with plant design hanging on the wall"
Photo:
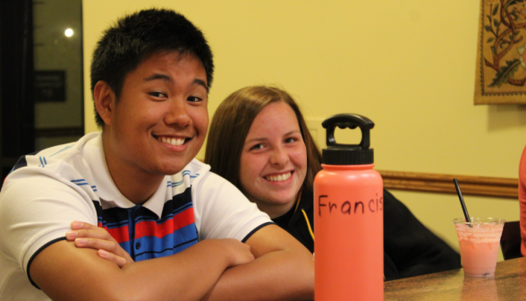
[[526, 104], [526, 0], [481, 0], [474, 100]]

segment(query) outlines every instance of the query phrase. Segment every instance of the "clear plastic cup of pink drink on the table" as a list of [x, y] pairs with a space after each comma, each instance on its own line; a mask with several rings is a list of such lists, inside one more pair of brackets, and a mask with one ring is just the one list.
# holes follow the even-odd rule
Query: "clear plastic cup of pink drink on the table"
[[471, 277], [491, 277], [495, 275], [496, 258], [504, 219], [471, 218], [454, 219], [454, 227], [461, 250], [464, 275]]

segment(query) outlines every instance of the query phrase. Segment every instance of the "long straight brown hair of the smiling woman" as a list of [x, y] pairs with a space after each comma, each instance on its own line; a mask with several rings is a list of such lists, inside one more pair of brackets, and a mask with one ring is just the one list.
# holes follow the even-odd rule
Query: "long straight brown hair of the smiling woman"
[[219, 107], [208, 132], [205, 163], [219, 176], [242, 190], [240, 162], [242, 148], [250, 125], [259, 112], [267, 105], [283, 101], [293, 108], [301, 136], [307, 149], [307, 174], [302, 188], [312, 189], [314, 176], [321, 169], [321, 153], [310, 135], [300, 107], [284, 90], [267, 86], [251, 86], [230, 94]]

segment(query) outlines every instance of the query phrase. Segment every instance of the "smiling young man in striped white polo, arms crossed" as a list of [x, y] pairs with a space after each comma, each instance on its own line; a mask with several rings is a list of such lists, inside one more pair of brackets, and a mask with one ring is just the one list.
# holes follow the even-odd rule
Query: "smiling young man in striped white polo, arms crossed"
[[[193, 159], [212, 73], [180, 14], [141, 11], [106, 30], [91, 65], [102, 133], [25, 156], [5, 180], [0, 299], [313, 298], [309, 251]], [[74, 220], [106, 228], [134, 262], [75, 247], [86, 240], [65, 240]]]

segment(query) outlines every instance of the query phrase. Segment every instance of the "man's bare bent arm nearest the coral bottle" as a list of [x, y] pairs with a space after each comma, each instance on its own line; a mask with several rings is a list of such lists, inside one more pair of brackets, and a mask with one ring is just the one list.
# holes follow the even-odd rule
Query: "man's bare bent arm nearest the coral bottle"
[[312, 254], [276, 225], [247, 240], [256, 260], [226, 270], [204, 300], [312, 300]]

